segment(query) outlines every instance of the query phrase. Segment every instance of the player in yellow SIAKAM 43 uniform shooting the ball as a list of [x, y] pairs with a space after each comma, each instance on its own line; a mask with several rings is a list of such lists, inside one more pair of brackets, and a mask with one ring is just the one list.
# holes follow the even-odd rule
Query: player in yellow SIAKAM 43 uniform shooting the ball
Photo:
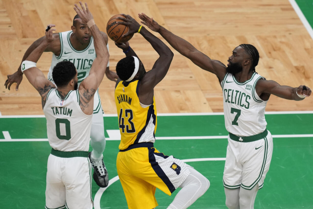
[[160, 153], [153, 146], [156, 131], [153, 88], [166, 75], [173, 53], [131, 16], [122, 15], [126, 18], [119, 18], [125, 21], [120, 23], [129, 27], [124, 36], [140, 33], [160, 56], [146, 72], [128, 42], [116, 43], [126, 54], [116, 65], [119, 79], [115, 85], [115, 103], [121, 132], [116, 167], [128, 208], [156, 207], [156, 187], [168, 195], [181, 187], [168, 208], [187, 208], [207, 191], [210, 182], [191, 166]]

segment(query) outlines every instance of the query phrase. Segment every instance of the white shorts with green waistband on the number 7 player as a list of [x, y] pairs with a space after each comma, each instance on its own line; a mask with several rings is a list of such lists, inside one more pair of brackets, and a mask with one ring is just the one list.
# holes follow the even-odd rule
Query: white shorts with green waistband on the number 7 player
[[[258, 184], [259, 189], [261, 189], [266, 173], [269, 171], [273, 154], [273, 137], [271, 133], [265, 130], [258, 135], [262, 138], [255, 141], [249, 141], [247, 137], [233, 137], [234, 135], [230, 135], [228, 135], [223, 175], [224, 187], [228, 189], [242, 187], [250, 190]], [[254, 136], [249, 136], [250, 140]], [[245, 138], [248, 142], [245, 142]]]

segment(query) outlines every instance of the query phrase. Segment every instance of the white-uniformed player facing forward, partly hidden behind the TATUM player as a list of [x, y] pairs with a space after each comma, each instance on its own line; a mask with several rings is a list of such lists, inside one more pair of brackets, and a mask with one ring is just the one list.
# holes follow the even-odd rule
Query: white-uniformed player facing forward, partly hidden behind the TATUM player
[[[53, 42], [47, 46], [45, 52], [52, 52], [52, 61], [48, 73], [48, 79], [53, 83], [52, 69], [54, 66], [61, 61], [70, 61], [75, 65], [77, 69], [78, 86], [80, 83], [89, 75], [91, 64], [96, 58], [94, 40], [91, 36], [90, 30], [86, 24], [75, 21], [80, 18], [76, 15], [73, 19], [73, 25], [70, 31], [54, 33], [55, 37]], [[108, 42], [108, 37], [105, 33], [101, 32], [105, 42]], [[41, 37], [36, 40], [25, 52], [22, 62], [28, 57], [28, 55], [45, 39]], [[109, 45], [107, 44], [107, 48]], [[106, 76], [113, 81], [116, 81], [118, 76], [115, 72], [109, 70], [109, 63], [107, 65]], [[20, 82], [23, 79], [23, 73], [19, 67], [18, 71], [12, 75], [8, 75], [8, 80], [5, 85], [10, 90], [11, 84], [17, 82], [16, 90]], [[94, 179], [98, 186], [105, 187], [108, 184], [109, 177], [103, 162], [103, 151], [105, 150], [105, 135], [104, 135], [104, 124], [103, 124], [103, 112], [101, 107], [101, 100], [99, 92], [97, 90], [96, 96], [94, 97], [94, 110], [92, 117], [91, 126], [91, 141], [90, 145], [93, 148], [90, 153], [90, 160], [92, 166], [95, 169]]]

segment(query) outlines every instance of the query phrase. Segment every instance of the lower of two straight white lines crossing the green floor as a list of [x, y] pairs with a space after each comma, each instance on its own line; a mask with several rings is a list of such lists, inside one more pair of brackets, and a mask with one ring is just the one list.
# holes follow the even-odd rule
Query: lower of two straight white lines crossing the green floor
[[[313, 134], [285, 134], [272, 135], [273, 138], [313, 138]], [[193, 139], [227, 139], [228, 136], [160, 136], [156, 140], [193, 140]], [[11, 137], [10, 137], [11, 138]], [[121, 138], [105, 138], [107, 141], [118, 141]], [[48, 139], [0, 139], [0, 142], [15, 142], [15, 141], [48, 141]]]

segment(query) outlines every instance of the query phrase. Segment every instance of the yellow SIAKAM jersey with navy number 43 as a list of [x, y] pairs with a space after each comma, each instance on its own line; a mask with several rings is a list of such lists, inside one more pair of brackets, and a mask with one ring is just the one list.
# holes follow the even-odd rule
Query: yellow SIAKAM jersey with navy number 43
[[141, 107], [138, 98], [140, 81], [124, 86], [120, 81], [115, 88], [115, 104], [121, 132], [120, 150], [141, 142], [154, 142], [156, 132], [156, 105]]

